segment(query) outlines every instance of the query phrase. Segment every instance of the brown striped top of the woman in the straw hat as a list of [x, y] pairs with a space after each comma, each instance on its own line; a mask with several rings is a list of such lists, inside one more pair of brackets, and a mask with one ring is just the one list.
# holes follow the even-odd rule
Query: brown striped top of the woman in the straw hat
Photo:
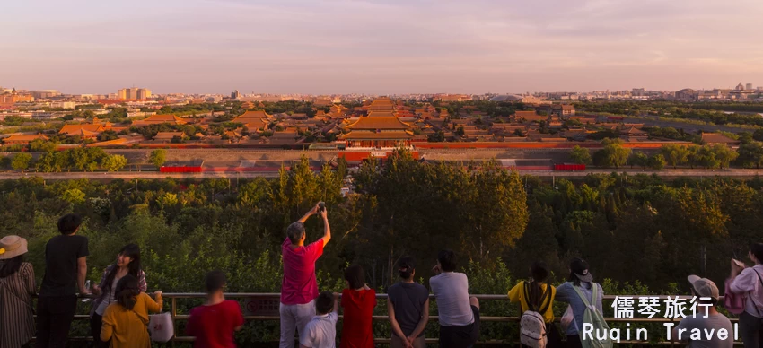
[[27, 262], [18, 272], [0, 278], [0, 348], [21, 347], [34, 335], [31, 295], [35, 289], [34, 269]]

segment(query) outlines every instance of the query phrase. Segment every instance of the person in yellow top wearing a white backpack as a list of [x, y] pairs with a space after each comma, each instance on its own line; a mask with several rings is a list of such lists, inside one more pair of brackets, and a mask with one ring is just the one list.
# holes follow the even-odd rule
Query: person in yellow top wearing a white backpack
[[554, 297], [557, 289], [546, 283], [548, 267], [542, 261], [530, 267], [531, 282], [522, 281], [509, 291], [509, 300], [519, 302], [520, 341], [527, 347], [560, 347], [562, 338], [554, 325]]

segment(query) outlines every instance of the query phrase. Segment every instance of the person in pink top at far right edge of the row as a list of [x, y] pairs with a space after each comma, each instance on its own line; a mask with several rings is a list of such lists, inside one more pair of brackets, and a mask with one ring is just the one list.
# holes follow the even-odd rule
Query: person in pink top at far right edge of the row
[[739, 328], [744, 348], [763, 347], [763, 243], [750, 247], [748, 257], [755, 264], [744, 267], [732, 260], [729, 290], [744, 296], [744, 311], [739, 315]]

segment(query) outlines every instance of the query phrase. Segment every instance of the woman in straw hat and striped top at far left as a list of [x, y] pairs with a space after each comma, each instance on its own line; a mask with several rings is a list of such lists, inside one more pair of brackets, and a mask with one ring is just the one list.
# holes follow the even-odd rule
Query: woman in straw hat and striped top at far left
[[18, 348], [31, 341], [34, 318], [31, 295], [37, 287], [34, 269], [24, 262], [27, 240], [0, 239], [0, 348]]

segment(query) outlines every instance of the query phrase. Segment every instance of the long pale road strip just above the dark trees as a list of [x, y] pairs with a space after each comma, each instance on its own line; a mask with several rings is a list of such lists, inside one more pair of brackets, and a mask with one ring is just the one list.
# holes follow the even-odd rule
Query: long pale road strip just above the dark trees
[[[621, 169], [594, 169], [585, 171], [554, 171], [554, 170], [520, 170], [520, 174], [534, 175], [541, 178], [582, 178], [588, 174], [610, 174], [612, 172], [627, 173], [628, 175], [656, 174], [663, 178], [713, 178], [713, 177], [732, 177], [732, 178], [752, 178], [763, 176], [763, 170], [638, 170], [630, 168]], [[158, 171], [119, 171], [119, 172], [94, 172], [94, 173], [18, 173], [3, 172], [0, 173], [0, 180], [40, 177], [47, 180], [74, 180], [78, 178], [87, 178], [92, 180], [114, 180], [114, 179], [162, 179], [162, 178], [277, 178], [277, 171], [268, 172], [203, 172], [203, 173], [160, 173]]]

